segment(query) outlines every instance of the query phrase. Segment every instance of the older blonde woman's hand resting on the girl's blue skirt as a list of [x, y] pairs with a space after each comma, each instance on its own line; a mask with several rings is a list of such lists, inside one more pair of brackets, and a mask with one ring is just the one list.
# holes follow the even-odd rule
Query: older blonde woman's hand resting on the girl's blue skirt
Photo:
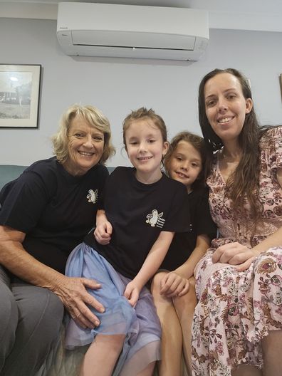
[[52, 288], [52, 291], [58, 295], [71, 318], [78, 325], [82, 328], [95, 328], [100, 322], [97, 316], [88, 308], [88, 305], [91, 305], [100, 313], [103, 313], [105, 308], [88, 293], [86, 288], [95, 290], [100, 287], [100, 283], [95, 282], [93, 279], [61, 275], [56, 281], [56, 288]]

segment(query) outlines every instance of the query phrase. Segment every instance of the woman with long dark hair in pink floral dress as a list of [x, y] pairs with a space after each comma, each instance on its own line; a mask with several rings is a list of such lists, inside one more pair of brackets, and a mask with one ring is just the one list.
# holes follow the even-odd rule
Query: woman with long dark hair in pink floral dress
[[195, 269], [193, 375], [282, 375], [282, 127], [259, 127], [248, 81], [216, 69], [199, 86], [219, 239]]

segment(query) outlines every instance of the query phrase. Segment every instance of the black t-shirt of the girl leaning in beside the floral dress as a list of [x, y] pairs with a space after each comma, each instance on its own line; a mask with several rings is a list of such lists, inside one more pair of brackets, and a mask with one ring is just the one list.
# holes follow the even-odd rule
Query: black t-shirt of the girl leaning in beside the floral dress
[[206, 234], [210, 239], [216, 237], [216, 225], [209, 211], [209, 189], [197, 189], [188, 194], [190, 211], [190, 231], [174, 235], [160, 268], [173, 271], [182, 265], [192, 254], [197, 242], [197, 236]]

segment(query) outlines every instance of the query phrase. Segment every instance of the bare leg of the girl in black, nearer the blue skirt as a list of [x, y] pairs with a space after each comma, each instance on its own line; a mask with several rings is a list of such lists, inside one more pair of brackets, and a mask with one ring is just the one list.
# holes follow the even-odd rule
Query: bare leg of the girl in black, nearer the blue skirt
[[182, 374], [182, 330], [171, 298], [160, 295], [160, 281], [165, 272], [157, 273], [151, 291], [162, 325], [162, 360], [157, 362], [159, 376]]

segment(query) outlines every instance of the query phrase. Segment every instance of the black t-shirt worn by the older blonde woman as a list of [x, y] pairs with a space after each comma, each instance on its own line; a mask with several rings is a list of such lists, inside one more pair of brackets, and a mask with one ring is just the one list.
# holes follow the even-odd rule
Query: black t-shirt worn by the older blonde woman
[[56, 157], [35, 162], [1, 190], [0, 224], [24, 232], [26, 251], [64, 272], [68, 255], [95, 225], [107, 177], [100, 164], [73, 177]]

